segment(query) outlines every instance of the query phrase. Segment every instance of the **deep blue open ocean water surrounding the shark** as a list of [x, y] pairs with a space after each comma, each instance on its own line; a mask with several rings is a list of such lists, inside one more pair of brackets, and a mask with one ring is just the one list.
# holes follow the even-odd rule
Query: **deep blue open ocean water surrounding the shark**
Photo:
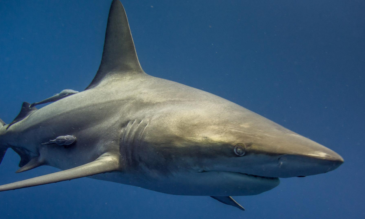
[[[174, 196], [81, 178], [0, 193], [0, 218], [364, 218], [364, 1], [122, 1], [146, 73], [214, 93], [336, 151], [337, 170], [236, 197]], [[110, 1], [0, 1], [0, 118], [82, 91], [100, 64]], [[0, 184], [15, 174], [8, 150]]]

